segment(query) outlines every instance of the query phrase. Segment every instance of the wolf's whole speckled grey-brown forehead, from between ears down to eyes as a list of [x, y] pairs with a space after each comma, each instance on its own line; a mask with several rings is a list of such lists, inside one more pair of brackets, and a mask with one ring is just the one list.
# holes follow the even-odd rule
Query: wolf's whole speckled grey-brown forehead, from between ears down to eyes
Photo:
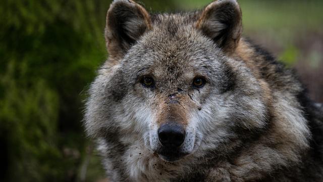
[[[214, 42], [194, 28], [193, 15], [158, 15], [152, 30], [144, 34], [131, 50], [140, 70], [155, 76], [171, 74], [175, 77], [207, 71], [217, 61], [220, 50]], [[140, 54], [138, 54], [140, 53]], [[135, 64], [135, 63], [133, 63]]]

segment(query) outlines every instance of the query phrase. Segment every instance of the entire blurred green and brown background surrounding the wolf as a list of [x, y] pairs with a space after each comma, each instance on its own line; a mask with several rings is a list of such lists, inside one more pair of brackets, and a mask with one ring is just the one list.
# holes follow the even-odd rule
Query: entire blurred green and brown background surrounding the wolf
[[[151, 12], [211, 0], [151, 0]], [[244, 35], [295, 68], [323, 102], [323, 1], [240, 0]], [[0, 181], [106, 181], [82, 127], [83, 101], [108, 56], [107, 0], [0, 1]]]

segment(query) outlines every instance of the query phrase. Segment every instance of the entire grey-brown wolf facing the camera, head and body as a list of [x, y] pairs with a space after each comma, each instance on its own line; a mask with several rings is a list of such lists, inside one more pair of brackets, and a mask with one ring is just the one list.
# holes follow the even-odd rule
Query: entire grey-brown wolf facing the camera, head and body
[[235, 0], [111, 4], [84, 116], [109, 181], [323, 181], [322, 108], [241, 34]]

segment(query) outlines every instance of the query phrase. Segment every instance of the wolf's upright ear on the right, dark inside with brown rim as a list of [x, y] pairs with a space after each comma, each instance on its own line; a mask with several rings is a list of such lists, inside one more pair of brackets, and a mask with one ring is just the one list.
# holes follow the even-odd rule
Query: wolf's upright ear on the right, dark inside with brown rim
[[232, 53], [242, 33], [241, 17], [237, 1], [218, 0], [203, 10], [195, 26], [213, 39], [225, 52]]

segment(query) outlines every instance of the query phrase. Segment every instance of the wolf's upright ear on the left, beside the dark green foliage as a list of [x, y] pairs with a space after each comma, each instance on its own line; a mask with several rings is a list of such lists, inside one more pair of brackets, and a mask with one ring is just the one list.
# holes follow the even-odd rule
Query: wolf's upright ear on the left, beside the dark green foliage
[[124, 56], [133, 43], [151, 28], [148, 12], [131, 0], [115, 0], [106, 15], [105, 42], [110, 57]]

